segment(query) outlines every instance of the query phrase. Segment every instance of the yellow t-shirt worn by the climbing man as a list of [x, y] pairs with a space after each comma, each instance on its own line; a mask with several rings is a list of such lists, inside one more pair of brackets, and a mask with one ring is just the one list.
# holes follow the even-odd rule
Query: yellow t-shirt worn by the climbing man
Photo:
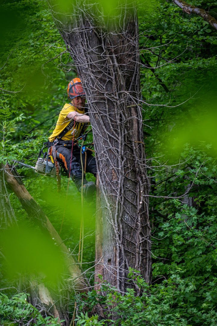
[[[72, 104], [65, 104], [62, 110], [60, 111], [56, 127], [52, 135], [50, 135], [50, 137], [48, 138], [49, 141], [54, 141], [55, 138], [58, 138], [58, 135], [60, 135], [61, 132], [65, 129], [65, 127], [69, 125], [70, 121], [72, 120], [67, 118], [67, 115], [72, 111], [76, 111], [78, 113], [85, 113], [85, 110], [80, 111], [77, 108], [75, 108], [75, 106], [73, 106]], [[73, 126], [65, 133], [65, 135], [61, 139], [64, 141], [69, 141], [72, 140], [73, 138], [74, 139], [78, 138], [80, 136], [84, 124], [87, 126], [89, 125], [89, 123], [75, 121]]]

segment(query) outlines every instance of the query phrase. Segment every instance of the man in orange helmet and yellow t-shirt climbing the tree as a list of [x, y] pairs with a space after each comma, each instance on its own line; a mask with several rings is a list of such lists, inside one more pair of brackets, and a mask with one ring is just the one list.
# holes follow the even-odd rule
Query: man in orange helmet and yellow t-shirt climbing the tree
[[[65, 104], [59, 114], [56, 127], [49, 137], [48, 146], [55, 145], [57, 160], [64, 165], [68, 175], [71, 176], [78, 191], [82, 187], [82, 169], [80, 161], [80, 147], [75, 139], [83, 135], [90, 124], [88, 109], [85, 107], [85, 92], [79, 78], [74, 78], [68, 84], [68, 98], [71, 103]], [[82, 154], [83, 166], [86, 171], [96, 177], [96, 161], [91, 151]], [[95, 191], [95, 184], [88, 182], [83, 175], [83, 194], [90, 198]]]

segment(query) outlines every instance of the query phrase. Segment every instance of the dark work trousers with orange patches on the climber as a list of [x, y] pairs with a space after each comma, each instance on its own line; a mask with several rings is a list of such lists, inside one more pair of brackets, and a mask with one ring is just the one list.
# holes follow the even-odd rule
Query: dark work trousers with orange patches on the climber
[[[70, 176], [72, 180], [75, 182], [78, 190], [81, 185], [82, 179], [82, 170], [81, 170], [81, 159], [80, 159], [80, 148], [77, 145], [72, 148], [66, 148], [64, 146], [56, 146], [57, 159], [61, 164], [64, 164], [65, 169], [68, 172], [70, 171]], [[86, 151], [87, 153], [87, 161], [86, 161], [86, 172], [92, 173], [96, 177], [97, 169], [96, 169], [96, 160], [95, 157], [91, 155], [91, 151]], [[83, 167], [85, 167], [85, 153], [82, 154]], [[71, 164], [70, 164], [71, 163]], [[71, 168], [70, 168], [71, 165]], [[84, 177], [84, 183], [86, 183], [86, 179]]]

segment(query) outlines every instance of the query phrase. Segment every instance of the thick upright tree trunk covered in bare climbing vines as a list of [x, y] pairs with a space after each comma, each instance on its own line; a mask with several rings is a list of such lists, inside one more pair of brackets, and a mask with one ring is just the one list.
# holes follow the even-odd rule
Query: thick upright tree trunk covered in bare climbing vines
[[127, 275], [132, 268], [150, 282], [151, 229], [136, 9], [132, 2], [118, 3], [115, 20], [100, 5], [84, 2], [81, 8], [77, 2], [74, 14], [64, 15], [54, 12], [60, 9], [54, 0], [48, 2], [87, 96], [102, 211], [100, 274], [119, 291], [131, 284], [139, 292]]

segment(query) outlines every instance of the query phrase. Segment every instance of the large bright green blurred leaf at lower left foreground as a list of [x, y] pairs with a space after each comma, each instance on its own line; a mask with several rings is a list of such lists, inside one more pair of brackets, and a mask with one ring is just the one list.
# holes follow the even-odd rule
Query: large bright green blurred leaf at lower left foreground
[[64, 261], [55, 240], [38, 228], [25, 225], [1, 231], [1, 251], [9, 277], [34, 274], [56, 283], [64, 273]]

